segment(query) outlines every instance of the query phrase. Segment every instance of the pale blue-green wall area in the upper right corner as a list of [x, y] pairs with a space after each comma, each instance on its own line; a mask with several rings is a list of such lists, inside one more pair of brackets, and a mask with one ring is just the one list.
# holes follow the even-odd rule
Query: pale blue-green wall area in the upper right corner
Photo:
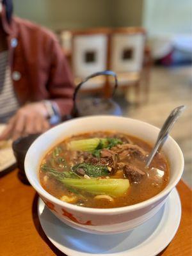
[[191, 34], [191, 0], [144, 0], [143, 26], [149, 35]]

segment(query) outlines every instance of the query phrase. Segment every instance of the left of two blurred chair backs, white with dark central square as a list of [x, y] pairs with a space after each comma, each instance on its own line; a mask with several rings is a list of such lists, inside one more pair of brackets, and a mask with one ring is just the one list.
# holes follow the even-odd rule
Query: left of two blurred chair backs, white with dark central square
[[[72, 71], [78, 84], [87, 76], [107, 69], [108, 29], [92, 29], [72, 33]], [[104, 89], [106, 77], [95, 77], [82, 90]], [[100, 91], [101, 92], [101, 91]]]

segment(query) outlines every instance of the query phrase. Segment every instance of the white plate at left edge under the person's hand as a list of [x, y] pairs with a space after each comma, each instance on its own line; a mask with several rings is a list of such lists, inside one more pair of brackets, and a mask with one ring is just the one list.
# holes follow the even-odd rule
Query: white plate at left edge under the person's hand
[[[5, 127], [5, 124], [0, 124], [0, 134], [3, 132]], [[3, 172], [15, 163], [16, 159], [13, 155], [12, 146], [0, 149], [0, 172]]]

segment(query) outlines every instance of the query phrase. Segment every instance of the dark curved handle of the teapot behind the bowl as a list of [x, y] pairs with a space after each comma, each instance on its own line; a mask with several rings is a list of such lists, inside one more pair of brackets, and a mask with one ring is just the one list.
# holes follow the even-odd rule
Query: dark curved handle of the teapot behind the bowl
[[74, 110], [73, 110], [73, 116], [77, 116], [77, 104], [76, 104], [76, 98], [77, 98], [77, 92], [79, 92], [79, 89], [81, 88], [81, 86], [86, 83], [86, 81], [88, 81], [89, 79], [93, 78], [93, 77], [96, 77], [96, 76], [113, 76], [115, 78], [115, 86], [113, 88], [113, 93], [111, 95], [111, 97], [113, 97], [113, 95], [115, 94], [115, 91], [116, 91], [116, 88], [118, 86], [118, 81], [117, 81], [117, 76], [115, 74], [115, 72], [111, 71], [111, 70], [105, 70], [105, 71], [100, 71], [100, 72], [96, 72], [96, 73], [93, 73], [92, 75], [84, 78], [84, 80], [77, 84], [76, 86], [76, 89], [75, 89], [75, 92], [74, 92], [74, 97], [73, 97], [73, 100], [74, 100]]

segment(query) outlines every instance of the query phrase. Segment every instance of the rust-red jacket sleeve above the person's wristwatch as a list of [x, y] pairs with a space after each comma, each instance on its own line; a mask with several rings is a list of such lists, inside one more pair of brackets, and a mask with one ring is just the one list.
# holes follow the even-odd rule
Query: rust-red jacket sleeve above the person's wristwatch
[[51, 70], [48, 90], [50, 99], [58, 105], [60, 115], [69, 115], [72, 111], [74, 83], [65, 54], [57, 40], [51, 43]]

